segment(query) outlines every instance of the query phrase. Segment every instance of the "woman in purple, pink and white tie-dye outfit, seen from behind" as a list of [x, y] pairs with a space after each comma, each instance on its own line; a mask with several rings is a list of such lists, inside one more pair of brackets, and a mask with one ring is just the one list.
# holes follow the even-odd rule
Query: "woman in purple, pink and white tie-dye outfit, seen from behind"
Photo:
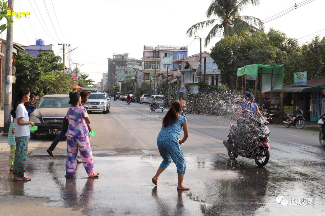
[[81, 155], [81, 160], [85, 166], [85, 170], [90, 178], [98, 178], [99, 173], [95, 173], [93, 154], [91, 152], [89, 142], [89, 130], [87, 124], [90, 124], [90, 119], [87, 110], [79, 106], [81, 97], [79, 92], [70, 92], [69, 94], [71, 107], [67, 112], [69, 121], [67, 136], [67, 162], [66, 175], [67, 178], [72, 178], [77, 167], [78, 148]]

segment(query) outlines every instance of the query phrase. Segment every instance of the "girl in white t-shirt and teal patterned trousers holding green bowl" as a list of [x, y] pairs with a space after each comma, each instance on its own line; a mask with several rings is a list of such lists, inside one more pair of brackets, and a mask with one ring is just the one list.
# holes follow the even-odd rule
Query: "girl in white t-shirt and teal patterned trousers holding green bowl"
[[30, 136], [29, 126], [34, 123], [29, 121], [28, 112], [24, 106], [29, 101], [29, 88], [22, 88], [18, 91], [14, 102], [13, 118], [15, 119], [15, 162], [12, 174], [17, 180], [31, 180], [29, 176], [24, 175], [24, 167], [28, 156], [28, 139]]

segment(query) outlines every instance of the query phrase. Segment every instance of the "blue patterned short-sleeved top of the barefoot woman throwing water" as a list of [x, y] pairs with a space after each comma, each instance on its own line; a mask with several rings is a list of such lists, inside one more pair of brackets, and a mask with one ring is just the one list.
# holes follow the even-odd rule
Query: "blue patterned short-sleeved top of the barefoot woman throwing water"
[[178, 121], [168, 127], [162, 126], [162, 129], [160, 130], [158, 137], [157, 137], [157, 142], [161, 141], [173, 141], [178, 143], [179, 139], [179, 134], [182, 129], [182, 124], [187, 121], [187, 119], [184, 116], [178, 115]]

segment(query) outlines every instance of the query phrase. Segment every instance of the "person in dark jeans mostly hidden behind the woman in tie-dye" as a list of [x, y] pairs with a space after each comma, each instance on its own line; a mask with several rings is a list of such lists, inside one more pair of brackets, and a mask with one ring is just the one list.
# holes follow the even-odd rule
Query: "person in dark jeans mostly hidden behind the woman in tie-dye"
[[[81, 97], [81, 104], [79, 104], [79, 106], [82, 107], [83, 103], [86, 103], [88, 101], [89, 93], [85, 92], [85, 91], [82, 91], [82, 92], [80, 92], [80, 97]], [[48, 149], [46, 150], [46, 152], [50, 156], [55, 157], [55, 155], [53, 154], [53, 151], [54, 151], [55, 147], [58, 145], [58, 143], [63, 139], [63, 137], [65, 137], [65, 134], [68, 131], [68, 126], [69, 126], [68, 119], [64, 118], [63, 119], [63, 125], [62, 125], [62, 128], [61, 128], [61, 132], [55, 137], [55, 139], [53, 140], [51, 146], [48, 147]], [[88, 125], [88, 129], [89, 129], [89, 131], [91, 131], [91, 128], [90, 128], [89, 125]], [[77, 162], [82, 163], [82, 161], [80, 159], [77, 159]]]

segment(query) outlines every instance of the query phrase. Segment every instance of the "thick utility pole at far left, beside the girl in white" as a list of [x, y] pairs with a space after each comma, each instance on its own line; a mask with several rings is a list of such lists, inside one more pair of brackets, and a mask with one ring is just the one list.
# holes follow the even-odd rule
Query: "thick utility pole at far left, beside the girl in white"
[[[14, 9], [14, 0], [8, 0], [8, 4]], [[13, 16], [10, 15], [10, 19], [13, 19]], [[7, 27], [7, 42], [6, 42], [6, 90], [5, 90], [5, 110], [4, 110], [4, 133], [3, 136], [8, 136], [9, 126], [11, 122], [11, 89], [12, 89], [12, 32], [13, 32], [13, 22], [10, 27]]]

